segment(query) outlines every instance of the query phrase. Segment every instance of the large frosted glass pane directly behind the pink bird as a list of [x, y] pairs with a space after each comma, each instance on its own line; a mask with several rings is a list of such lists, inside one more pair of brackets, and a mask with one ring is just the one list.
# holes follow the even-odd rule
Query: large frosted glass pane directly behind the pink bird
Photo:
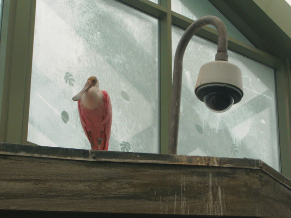
[[96, 76], [113, 107], [109, 150], [159, 152], [158, 20], [114, 0], [36, 3], [28, 140], [89, 149], [71, 98]]

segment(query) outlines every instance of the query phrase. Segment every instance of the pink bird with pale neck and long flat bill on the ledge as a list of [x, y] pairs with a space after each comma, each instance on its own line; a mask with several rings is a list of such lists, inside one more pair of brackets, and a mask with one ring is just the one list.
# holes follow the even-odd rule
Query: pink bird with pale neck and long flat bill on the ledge
[[89, 77], [84, 88], [72, 100], [78, 101], [81, 125], [91, 143], [91, 149], [107, 151], [112, 124], [108, 93], [99, 89], [96, 77]]

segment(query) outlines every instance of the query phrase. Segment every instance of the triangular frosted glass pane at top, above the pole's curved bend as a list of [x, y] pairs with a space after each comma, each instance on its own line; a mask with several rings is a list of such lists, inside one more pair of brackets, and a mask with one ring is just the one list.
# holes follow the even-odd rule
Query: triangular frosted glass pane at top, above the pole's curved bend
[[[207, 15], [217, 16], [225, 23], [228, 36], [253, 46], [208, 0], [172, 0], [172, 11], [193, 20]], [[212, 25], [208, 27], [215, 29]]]

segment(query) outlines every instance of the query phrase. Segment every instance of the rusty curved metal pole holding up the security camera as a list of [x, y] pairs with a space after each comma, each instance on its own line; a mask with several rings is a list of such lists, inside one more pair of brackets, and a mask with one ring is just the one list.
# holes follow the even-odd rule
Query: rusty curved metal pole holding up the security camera
[[180, 115], [180, 100], [181, 100], [181, 85], [182, 85], [182, 69], [183, 57], [185, 49], [194, 34], [203, 26], [213, 25], [218, 34], [218, 47], [215, 61], [228, 60], [227, 55], [227, 31], [226, 26], [216, 16], [203, 16], [195, 20], [182, 35], [175, 53], [172, 98], [171, 98], [171, 116], [169, 127], [169, 145], [168, 154], [177, 154], [178, 145], [178, 129], [179, 129], [179, 115]]

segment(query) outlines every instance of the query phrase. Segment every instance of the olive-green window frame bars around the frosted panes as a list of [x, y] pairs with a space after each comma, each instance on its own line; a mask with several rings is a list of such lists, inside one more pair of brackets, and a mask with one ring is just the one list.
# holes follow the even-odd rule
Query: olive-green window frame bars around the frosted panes
[[[149, 0], [119, 1], [160, 20], [160, 153], [166, 154], [172, 86], [171, 28], [174, 24], [186, 29], [193, 20], [172, 12], [171, 0], [160, 0], [160, 4]], [[214, 4], [215, 2], [217, 1], [214, 0]], [[216, 6], [225, 7], [225, 14], [234, 13], [225, 2], [227, 1], [223, 1], [225, 5], [217, 3]], [[0, 141], [2, 142], [32, 144], [27, 141], [27, 131], [35, 5], [36, 0], [3, 1], [0, 36], [0, 91], [2, 91], [0, 92]], [[270, 19], [264, 22], [273, 21]], [[217, 32], [209, 27], [204, 27], [197, 35], [217, 42]], [[228, 48], [275, 69], [281, 172], [291, 178], [290, 59], [286, 55], [277, 58], [231, 37], [228, 40]]]

